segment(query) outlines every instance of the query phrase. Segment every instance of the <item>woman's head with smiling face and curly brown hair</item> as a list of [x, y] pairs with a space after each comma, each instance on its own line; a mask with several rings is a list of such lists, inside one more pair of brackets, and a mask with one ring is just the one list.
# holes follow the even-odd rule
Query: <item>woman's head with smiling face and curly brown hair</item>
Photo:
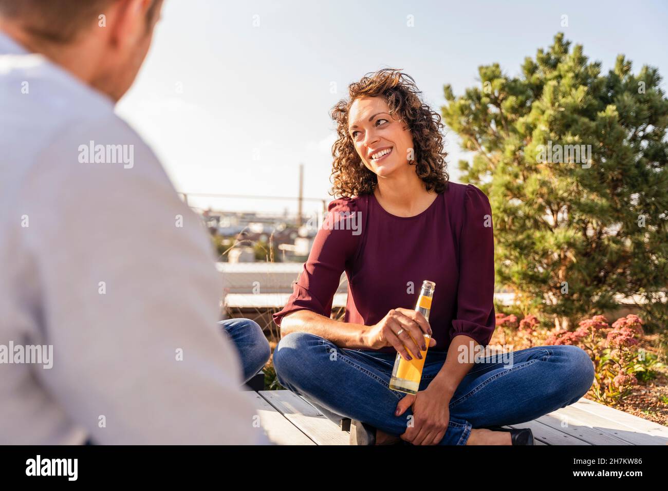
[[426, 191], [444, 191], [443, 124], [420, 94], [410, 75], [391, 68], [350, 84], [349, 98], [331, 111], [339, 136], [332, 150], [333, 194], [372, 192], [379, 177], [413, 168], [406, 163], [414, 166]]

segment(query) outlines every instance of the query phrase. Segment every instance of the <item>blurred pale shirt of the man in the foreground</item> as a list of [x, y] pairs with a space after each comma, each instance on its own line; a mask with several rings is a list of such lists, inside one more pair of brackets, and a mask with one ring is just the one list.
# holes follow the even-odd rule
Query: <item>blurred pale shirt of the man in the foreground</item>
[[269, 443], [200, 218], [112, 100], [2, 33], [0, 149], [0, 444]]

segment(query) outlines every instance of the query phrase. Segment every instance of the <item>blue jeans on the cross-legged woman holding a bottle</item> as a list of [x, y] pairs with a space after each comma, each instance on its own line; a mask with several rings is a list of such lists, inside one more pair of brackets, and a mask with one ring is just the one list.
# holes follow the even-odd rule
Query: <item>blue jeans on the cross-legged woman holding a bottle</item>
[[[443, 366], [446, 351], [428, 351], [420, 390]], [[405, 432], [412, 410], [394, 416], [405, 393], [389, 389], [395, 353], [339, 348], [322, 337], [297, 332], [274, 350], [283, 387], [315, 405], [359, 420], [387, 434]], [[440, 445], [466, 445], [472, 428], [503, 426], [540, 418], [576, 402], [594, 381], [587, 352], [571, 345], [514, 351], [512, 363], [480, 359], [450, 399], [450, 424]], [[412, 418], [411, 418], [412, 419]]]

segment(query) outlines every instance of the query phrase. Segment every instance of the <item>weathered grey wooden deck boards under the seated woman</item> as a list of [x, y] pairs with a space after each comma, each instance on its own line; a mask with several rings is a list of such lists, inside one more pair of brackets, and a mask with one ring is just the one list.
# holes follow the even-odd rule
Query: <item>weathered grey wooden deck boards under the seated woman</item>
[[[246, 391], [267, 436], [279, 445], [348, 445], [335, 415], [289, 390]], [[537, 420], [506, 428], [531, 428], [536, 445], [668, 445], [668, 427], [582, 397]]]

